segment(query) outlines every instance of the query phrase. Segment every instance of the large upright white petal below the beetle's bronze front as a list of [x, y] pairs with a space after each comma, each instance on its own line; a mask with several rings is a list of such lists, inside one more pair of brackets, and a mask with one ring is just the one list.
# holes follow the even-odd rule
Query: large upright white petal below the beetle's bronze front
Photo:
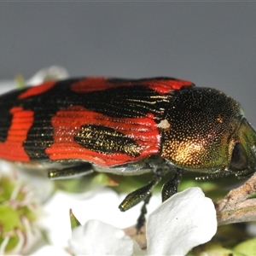
[[212, 200], [200, 188], [172, 195], [148, 216], [148, 255], [185, 255], [217, 230]]

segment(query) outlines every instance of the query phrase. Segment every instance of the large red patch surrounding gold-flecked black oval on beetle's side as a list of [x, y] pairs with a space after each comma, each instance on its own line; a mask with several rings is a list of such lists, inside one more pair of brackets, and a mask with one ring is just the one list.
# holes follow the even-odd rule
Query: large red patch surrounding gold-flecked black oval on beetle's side
[[[117, 119], [95, 113], [81, 106], [73, 106], [58, 111], [51, 119], [54, 127], [54, 143], [45, 149], [50, 160], [86, 160], [98, 166], [116, 166], [130, 161], [142, 160], [160, 149], [160, 134], [154, 119], [123, 118]], [[82, 125], [103, 125], [131, 137], [141, 148], [137, 157], [123, 153], [105, 154], [84, 148], [74, 141], [74, 136]]]

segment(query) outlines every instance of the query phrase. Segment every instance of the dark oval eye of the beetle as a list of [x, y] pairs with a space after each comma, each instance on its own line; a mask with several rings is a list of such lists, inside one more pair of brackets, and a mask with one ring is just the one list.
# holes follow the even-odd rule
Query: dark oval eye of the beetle
[[236, 143], [232, 153], [230, 169], [234, 171], [242, 171], [247, 169], [247, 166], [247, 153], [241, 143]]

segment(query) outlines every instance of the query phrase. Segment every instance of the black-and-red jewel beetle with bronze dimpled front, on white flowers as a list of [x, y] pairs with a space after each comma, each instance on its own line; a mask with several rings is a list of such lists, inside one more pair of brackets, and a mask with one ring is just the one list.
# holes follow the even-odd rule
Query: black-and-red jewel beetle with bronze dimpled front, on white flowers
[[0, 109], [4, 160], [45, 168], [52, 179], [152, 172], [148, 184], [126, 196], [121, 211], [147, 204], [167, 172], [175, 174], [163, 185], [162, 201], [177, 192], [183, 172], [209, 179], [246, 177], [256, 169], [256, 132], [240, 104], [185, 80], [48, 81], [4, 94]]

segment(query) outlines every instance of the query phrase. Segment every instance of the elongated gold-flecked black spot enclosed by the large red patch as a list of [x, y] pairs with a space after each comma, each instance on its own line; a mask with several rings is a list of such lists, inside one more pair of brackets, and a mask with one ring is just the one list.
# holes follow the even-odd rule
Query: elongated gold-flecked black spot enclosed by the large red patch
[[102, 125], [83, 125], [74, 140], [84, 148], [105, 154], [123, 153], [136, 157], [141, 151], [130, 137]]

